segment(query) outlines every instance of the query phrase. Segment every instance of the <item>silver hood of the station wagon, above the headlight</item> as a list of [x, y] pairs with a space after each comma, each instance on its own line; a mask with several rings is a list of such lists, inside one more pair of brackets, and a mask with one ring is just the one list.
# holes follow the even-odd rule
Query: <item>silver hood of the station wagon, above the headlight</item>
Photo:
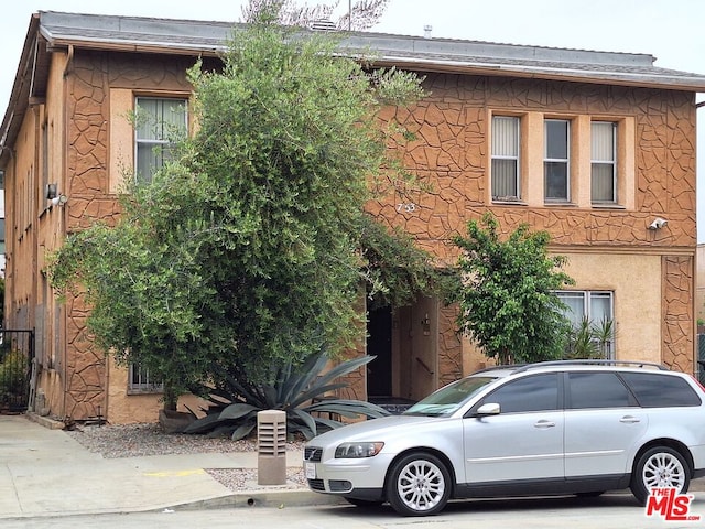
[[306, 444], [311, 446], [326, 446], [329, 444], [355, 441], [390, 441], [394, 438], [408, 436], [410, 432], [419, 432], [426, 423], [438, 423], [444, 418], [419, 415], [390, 415], [379, 419], [347, 424], [315, 436]]

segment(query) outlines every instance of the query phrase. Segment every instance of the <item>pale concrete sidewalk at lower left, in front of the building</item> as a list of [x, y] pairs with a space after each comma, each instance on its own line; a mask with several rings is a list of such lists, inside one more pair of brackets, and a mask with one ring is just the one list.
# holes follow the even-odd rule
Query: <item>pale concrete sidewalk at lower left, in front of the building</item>
[[[301, 452], [286, 465], [301, 466]], [[248, 485], [232, 493], [204, 468], [257, 468], [256, 452], [104, 460], [63, 430], [0, 415], [0, 520], [239, 505], [319, 505], [306, 488]], [[0, 522], [1, 526], [1, 522]]]

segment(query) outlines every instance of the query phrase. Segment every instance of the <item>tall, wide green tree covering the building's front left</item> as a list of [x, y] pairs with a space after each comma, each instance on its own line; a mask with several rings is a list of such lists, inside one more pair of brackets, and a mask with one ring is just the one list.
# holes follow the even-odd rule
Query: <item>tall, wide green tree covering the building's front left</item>
[[404, 177], [386, 147], [402, 131], [375, 117], [413, 104], [420, 79], [365, 69], [275, 8], [234, 32], [221, 69], [189, 71], [197, 132], [127, 190], [117, 225], [72, 235], [50, 264], [56, 289], [85, 292], [96, 343], [173, 388], [169, 407], [352, 345], [364, 281], [390, 302], [433, 284], [429, 256], [364, 210], [380, 179]]

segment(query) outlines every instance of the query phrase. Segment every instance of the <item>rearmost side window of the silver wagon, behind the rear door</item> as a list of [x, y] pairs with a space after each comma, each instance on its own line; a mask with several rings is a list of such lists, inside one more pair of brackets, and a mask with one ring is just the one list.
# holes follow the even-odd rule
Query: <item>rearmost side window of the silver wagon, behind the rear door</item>
[[651, 373], [622, 373], [621, 377], [644, 408], [701, 406], [701, 398], [681, 377]]

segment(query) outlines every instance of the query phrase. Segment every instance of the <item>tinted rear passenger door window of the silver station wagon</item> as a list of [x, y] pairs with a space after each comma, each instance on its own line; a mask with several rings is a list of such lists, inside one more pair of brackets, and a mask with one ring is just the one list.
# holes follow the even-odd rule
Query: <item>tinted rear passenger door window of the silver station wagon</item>
[[633, 397], [614, 373], [568, 373], [571, 409], [625, 408], [637, 406]]

